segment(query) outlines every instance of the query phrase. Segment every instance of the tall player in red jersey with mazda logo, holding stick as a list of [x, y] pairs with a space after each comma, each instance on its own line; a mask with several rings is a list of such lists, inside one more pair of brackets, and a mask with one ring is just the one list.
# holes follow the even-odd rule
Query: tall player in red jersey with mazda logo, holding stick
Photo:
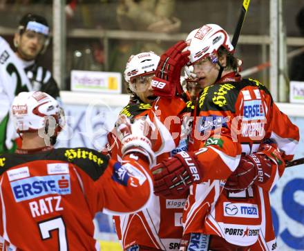
[[[190, 186], [180, 250], [275, 250], [269, 190], [293, 157], [298, 128], [262, 83], [238, 74], [234, 48], [220, 26], [193, 30], [187, 43], [193, 73], [207, 87], [193, 112], [189, 151], [153, 168], [155, 193], [166, 197]], [[182, 53], [160, 58], [153, 79], [159, 96], [178, 84], [170, 65]]]

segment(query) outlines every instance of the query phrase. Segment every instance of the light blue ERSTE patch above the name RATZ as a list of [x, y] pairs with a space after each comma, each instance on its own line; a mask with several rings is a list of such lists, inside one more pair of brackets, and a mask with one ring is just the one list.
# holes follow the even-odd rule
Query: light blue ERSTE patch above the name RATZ
[[15, 200], [26, 201], [47, 194], [70, 194], [70, 174], [37, 176], [10, 182]]

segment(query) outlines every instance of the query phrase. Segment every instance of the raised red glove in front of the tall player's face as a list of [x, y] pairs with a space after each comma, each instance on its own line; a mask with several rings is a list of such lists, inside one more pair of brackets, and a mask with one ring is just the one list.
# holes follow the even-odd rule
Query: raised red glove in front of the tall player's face
[[180, 72], [189, 61], [190, 54], [189, 50], [182, 52], [186, 47], [187, 43], [179, 41], [160, 57], [151, 83], [156, 96], [171, 98], [175, 95], [176, 88], [178, 88], [178, 93], [182, 93]]

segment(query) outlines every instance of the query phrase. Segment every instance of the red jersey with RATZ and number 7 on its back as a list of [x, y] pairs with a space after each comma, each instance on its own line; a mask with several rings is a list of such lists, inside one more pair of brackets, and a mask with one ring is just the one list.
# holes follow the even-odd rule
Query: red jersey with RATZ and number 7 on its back
[[120, 163], [88, 148], [58, 148], [2, 154], [0, 166], [3, 250], [99, 250], [95, 213], [142, 210], [153, 193], [149, 163], [136, 153]]

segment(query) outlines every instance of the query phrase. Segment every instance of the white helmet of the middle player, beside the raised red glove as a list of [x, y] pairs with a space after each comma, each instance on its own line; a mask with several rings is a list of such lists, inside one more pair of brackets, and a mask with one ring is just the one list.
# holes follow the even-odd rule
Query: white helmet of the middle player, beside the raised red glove
[[154, 52], [142, 52], [132, 55], [126, 63], [124, 79], [131, 83], [134, 77], [144, 76], [155, 72], [160, 57]]

